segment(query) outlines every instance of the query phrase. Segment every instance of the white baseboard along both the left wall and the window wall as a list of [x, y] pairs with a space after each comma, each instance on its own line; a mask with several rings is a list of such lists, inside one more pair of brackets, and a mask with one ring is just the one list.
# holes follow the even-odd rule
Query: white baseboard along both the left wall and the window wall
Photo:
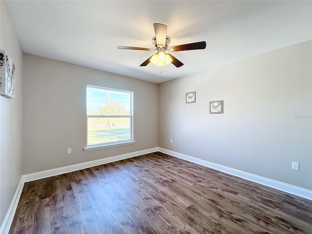
[[156, 151], [158, 151], [158, 147], [147, 149], [147, 150], [140, 150], [140, 151], [136, 151], [136, 152], [132, 152], [132, 153], [128, 153], [128, 154], [123, 154], [123, 155], [101, 158], [98, 160], [78, 163], [78, 164], [74, 164], [74, 165], [70, 165], [70, 166], [66, 166], [66, 167], [59, 167], [59, 168], [46, 170], [46, 171], [42, 171], [42, 172], [36, 172], [36, 173], [22, 175], [20, 178], [20, 183], [18, 185], [18, 188], [15, 192], [15, 195], [14, 195], [12, 202], [11, 202], [11, 205], [9, 207], [9, 210], [6, 213], [4, 220], [1, 224], [0, 234], [8, 234], [10, 231], [10, 227], [11, 227], [11, 224], [12, 224], [15, 212], [16, 212], [16, 208], [19, 204], [20, 195], [21, 195], [21, 192], [23, 190], [25, 182], [29, 182], [29, 181], [33, 181], [33, 180], [37, 180], [37, 179], [43, 179], [43, 178], [47, 178], [50, 176], [58, 176], [58, 175], [61, 175], [64, 173], [74, 172], [74, 171], [86, 169], [89, 167], [95, 167], [98, 165], [102, 165], [102, 164], [106, 164], [106, 163], [110, 163], [110, 162], [116, 162], [119, 160], [131, 158], [131, 157], [136, 157], [136, 156], [141, 156], [141, 155], [145, 155], [145, 154], [149, 154], [149, 153], [154, 153]]

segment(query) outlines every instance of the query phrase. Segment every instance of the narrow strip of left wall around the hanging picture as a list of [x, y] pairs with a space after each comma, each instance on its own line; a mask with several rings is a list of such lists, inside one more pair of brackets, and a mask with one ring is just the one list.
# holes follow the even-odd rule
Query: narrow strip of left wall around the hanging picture
[[[15, 63], [15, 98], [0, 95], [0, 226], [22, 175], [22, 51], [6, 3], [0, 1], [0, 48]], [[3, 81], [3, 80], [2, 80]], [[3, 83], [3, 82], [2, 82]]]

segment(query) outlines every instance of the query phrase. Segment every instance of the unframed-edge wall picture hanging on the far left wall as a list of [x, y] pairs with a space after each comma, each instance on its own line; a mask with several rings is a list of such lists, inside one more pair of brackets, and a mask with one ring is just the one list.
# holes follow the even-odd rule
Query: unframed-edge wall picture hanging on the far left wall
[[0, 50], [0, 94], [14, 98], [15, 64], [6, 51]]

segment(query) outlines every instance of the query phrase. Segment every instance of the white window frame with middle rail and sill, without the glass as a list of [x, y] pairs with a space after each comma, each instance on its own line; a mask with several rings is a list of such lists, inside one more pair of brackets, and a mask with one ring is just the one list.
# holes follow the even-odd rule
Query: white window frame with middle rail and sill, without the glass
[[[86, 115], [87, 116], [87, 147], [83, 148], [84, 151], [88, 150], [95, 150], [95, 149], [102, 149], [102, 148], [107, 148], [107, 147], [114, 147], [114, 146], [119, 146], [119, 145], [127, 145], [127, 144], [134, 144], [136, 143], [135, 140], [133, 140], [133, 96], [134, 93], [133, 91], [128, 91], [128, 90], [120, 90], [120, 89], [112, 89], [112, 88], [106, 88], [106, 87], [100, 87], [100, 86], [94, 86], [94, 85], [87, 85], [87, 88], [96, 88], [96, 89], [102, 89], [102, 90], [108, 90], [108, 91], [115, 91], [115, 92], [123, 92], [123, 93], [129, 93], [130, 94], [130, 115], [125, 115], [125, 116], [116, 116], [116, 115]], [[88, 101], [88, 100], [86, 100]], [[104, 117], [104, 118], [120, 118], [120, 117], [128, 117], [130, 118], [130, 139], [127, 140], [120, 140], [120, 141], [112, 141], [112, 142], [107, 142], [107, 143], [99, 143], [99, 144], [92, 144], [88, 145], [88, 119], [93, 118], [93, 117]]]

